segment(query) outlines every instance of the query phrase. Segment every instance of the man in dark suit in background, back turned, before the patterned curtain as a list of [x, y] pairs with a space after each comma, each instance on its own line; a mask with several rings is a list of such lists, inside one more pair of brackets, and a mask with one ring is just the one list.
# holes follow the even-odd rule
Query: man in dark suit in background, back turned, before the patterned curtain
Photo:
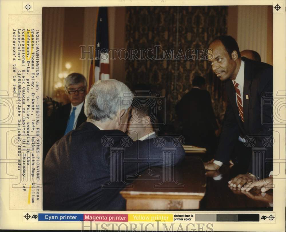
[[176, 112], [182, 119], [182, 135], [186, 145], [204, 147], [214, 152], [218, 125], [210, 94], [205, 90], [206, 81], [201, 76], [195, 76], [192, 85], [193, 88], [176, 105]]

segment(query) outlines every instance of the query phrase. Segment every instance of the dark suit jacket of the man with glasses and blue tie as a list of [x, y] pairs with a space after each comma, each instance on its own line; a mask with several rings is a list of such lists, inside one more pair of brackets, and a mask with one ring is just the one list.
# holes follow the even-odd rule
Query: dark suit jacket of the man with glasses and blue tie
[[[72, 104], [68, 103], [66, 105], [63, 105], [59, 107], [50, 117], [50, 120], [48, 122], [46, 129], [47, 136], [44, 141], [44, 147], [43, 147], [43, 158], [45, 159], [45, 155], [51, 148], [51, 146], [58, 141], [63, 135], [65, 134], [65, 129], [67, 128], [67, 121], [69, 119], [69, 114], [72, 109]], [[78, 121], [76, 123], [76, 128], [78, 128], [82, 123], [86, 121], [86, 115], [84, 114], [84, 104], [82, 106], [82, 109], [80, 111], [80, 114], [78, 115]], [[44, 160], [43, 159], [43, 160]]]

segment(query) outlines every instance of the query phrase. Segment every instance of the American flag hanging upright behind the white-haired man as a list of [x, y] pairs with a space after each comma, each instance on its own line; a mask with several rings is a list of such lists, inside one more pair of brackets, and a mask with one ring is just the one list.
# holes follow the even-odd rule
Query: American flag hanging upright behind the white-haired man
[[95, 60], [92, 60], [88, 89], [98, 80], [109, 79], [107, 7], [99, 7], [96, 24]]

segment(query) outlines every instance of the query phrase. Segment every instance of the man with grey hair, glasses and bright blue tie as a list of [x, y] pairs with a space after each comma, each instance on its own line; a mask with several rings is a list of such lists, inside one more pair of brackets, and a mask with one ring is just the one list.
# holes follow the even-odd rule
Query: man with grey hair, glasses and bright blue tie
[[84, 115], [84, 99], [86, 97], [86, 78], [80, 73], [71, 73], [65, 80], [65, 93], [70, 103], [59, 107], [51, 115], [48, 123], [46, 141], [43, 154], [46, 155], [51, 146], [63, 135], [78, 128], [86, 121]]

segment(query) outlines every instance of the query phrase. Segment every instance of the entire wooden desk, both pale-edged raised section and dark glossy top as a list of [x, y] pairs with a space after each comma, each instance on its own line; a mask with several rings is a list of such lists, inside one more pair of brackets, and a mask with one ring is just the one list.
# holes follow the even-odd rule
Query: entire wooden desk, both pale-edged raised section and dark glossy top
[[243, 169], [247, 171], [247, 167], [223, 165], [217, 171], [205, 172], [201, 161], [205, 157], [206, 154], [201, 153], [187, 154], [175, 170], [168, 168], [171, 169], [168, 173], [176, 171], [176, 182], [170, 176], [169, 180], [161, 181], [167, 169], [152, 167], [146, 170], [133, 182], [133, 188], [120, 192], [126, 199], [126, 209], [273, 210], [272, 190], [261, 194], [259, 189], [245, 192], [228, 187], [227, 182]]

